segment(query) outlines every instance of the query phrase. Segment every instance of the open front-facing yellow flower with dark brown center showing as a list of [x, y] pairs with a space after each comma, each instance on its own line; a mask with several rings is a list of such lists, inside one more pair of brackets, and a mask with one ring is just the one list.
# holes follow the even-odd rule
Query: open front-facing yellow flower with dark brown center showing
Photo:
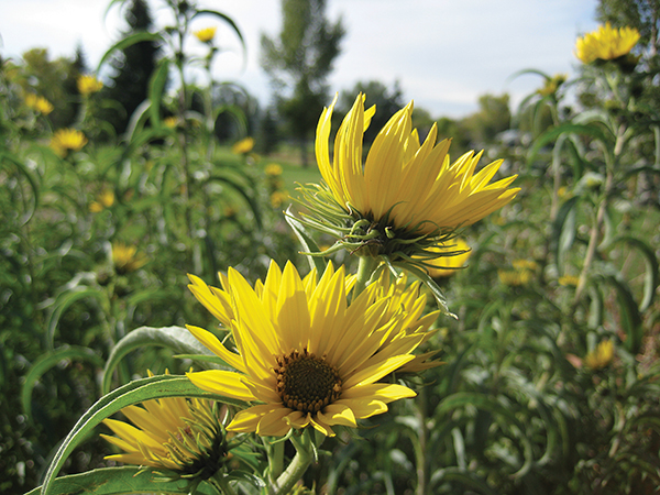
[[[380, 383], [415, 359], [425, 332], [411, 330], [400, 298], [364, 290], [348, 305], [352, 277], [329, 264], [300, 278], [293, 264], [272, 262], [254, 288], [233, 268], [222, 289], [191, 276], [193, 294], [231, 330], [234, 349], [211, 332], [190, 332], [235, 371], [189, 373], [198, 387], [251, 404], [229, 431], [284, 436], [314, 427], [333, 436], [333, 427], [385, 413], [387, 404], [415, 393]], [[399, 305], [397, 305], [399, 304]], [[427, 323], [426, 321], [424, 322]]]

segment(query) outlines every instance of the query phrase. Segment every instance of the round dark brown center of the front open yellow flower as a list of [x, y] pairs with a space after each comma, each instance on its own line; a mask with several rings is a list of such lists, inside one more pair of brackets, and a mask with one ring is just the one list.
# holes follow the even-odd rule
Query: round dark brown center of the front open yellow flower
[[277, 358], [273, 371], [282, 403], [304, 414], [318, 413], [341, 395], [338, 371], [326, 362], [324, 356], [317, 358], [307, 349]]

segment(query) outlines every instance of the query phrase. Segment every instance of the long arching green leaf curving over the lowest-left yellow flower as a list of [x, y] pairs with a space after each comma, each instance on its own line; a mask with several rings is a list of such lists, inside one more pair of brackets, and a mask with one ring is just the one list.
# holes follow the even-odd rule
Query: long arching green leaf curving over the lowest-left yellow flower
[[245, 404], [240, 400], [230, 399], [197, 388], [185, 376], [157, 375], [128, 383], [98, 399], [96, 404], [80, 417], [76, 426], [74, 426], [74, 429], [67, 435], [53, 457], [53, 461], [44, 477], [42, 495], [51, 493], [53, 481], [67, 458], [103, 419], [120, 411], [124, 407], [140, 404], [145, 400], [166, 397], [199, 397], [222, 402], [224, 404], [232, 404], [239, 407], [245, 406]]

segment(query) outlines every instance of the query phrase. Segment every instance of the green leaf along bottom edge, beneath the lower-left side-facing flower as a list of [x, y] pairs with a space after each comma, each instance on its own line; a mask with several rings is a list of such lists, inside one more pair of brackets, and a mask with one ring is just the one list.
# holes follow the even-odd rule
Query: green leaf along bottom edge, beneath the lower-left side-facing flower
[[[25, 495], [38, 495], [41, 491], [40, 486]], [[162, 474], [139, 466], [103, 468], [58, 477], [50, 487], [51, 495], [128, 495], [153, 492], [187, 495], [190, 493], [190, 480], [167, 481]], [[201, 483], [195, 493], [216, 495], [217, 492]]]

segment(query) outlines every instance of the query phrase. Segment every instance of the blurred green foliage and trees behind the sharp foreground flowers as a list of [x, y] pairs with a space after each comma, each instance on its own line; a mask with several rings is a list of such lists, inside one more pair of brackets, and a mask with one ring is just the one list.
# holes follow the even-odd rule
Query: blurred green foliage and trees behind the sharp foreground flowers
[[[307, 266], [282, 210], [296, 183], [320, 179], [305, 165], [331, 101], [341, 22], [326, 19], [323, 1], [283, 0], [282, 34], [262, 42], [277, 82], [264, 109], [240, 85], [213, 79], [221, 46], [190, 30], [200, 18], [241, 38], [233, 20], [167, 0], [175, 23], [160, 26], [144, 0], [112, 3], [127, 30], [96, 70], [84, 46], [70, 59], [34, 48], [1, 61], [2, 493], [38, 485], [58, 442], [101, 395], [121, 338], [215, 324], [186, 290], [187, 273], [216, 284], [229, 266], [248, 279], [262, 277], [270, 258]], [[378, 417], [377, 430], [328, 440], [332, 455], [307, 473], [307, 486], [657, 493], [659, 12], [651, 0], [601, 2], [601, 21], [642, 34], [632, 67], [585, 65], [572, 80], [524, 70], [539, 90], [516, 109], [508, 95], [484, 95], [463, 119], [415, 110], [421, 136], [437, 123], [453, 139], [452, 157], [472, 148], [504, 157], [502, 172], [519, 174], [522, 190], [464, 232], [469, 267], [439, 280], [459, 316], [438, 321], [427, 343], [444, 364], [416, 383], [416, 399]], [[79, 87], [99, 69], [102, 88]], [[341, 91], [336, 114], [359, 91], [378, 110], [367, 148], [406, 101], [399, 82], [363, 81]], [[84, 140], [58, 147], [62, 129]], [[121, 361], [113, 385], [188, 364], [148, 346]], [[107, 453], [90, 439], [63, 473], [106, 465]]]

